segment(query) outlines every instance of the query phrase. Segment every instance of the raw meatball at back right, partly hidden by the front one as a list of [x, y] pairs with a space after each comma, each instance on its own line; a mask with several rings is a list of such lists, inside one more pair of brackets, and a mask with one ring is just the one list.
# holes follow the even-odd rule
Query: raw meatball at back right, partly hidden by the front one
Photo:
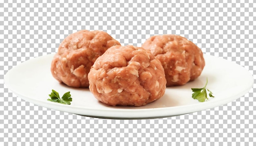
[[179, 35], [155, 35], [142, 44], [164, 67], [166, 86], [184, 85], [204, 69], [203, 53], [193, 42]]

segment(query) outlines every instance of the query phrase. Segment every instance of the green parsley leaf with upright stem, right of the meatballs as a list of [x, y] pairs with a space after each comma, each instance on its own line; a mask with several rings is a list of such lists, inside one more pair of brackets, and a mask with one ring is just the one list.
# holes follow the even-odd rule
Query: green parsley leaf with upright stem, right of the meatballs
[[192, 94], [193, 99], [197, 99], [199, 102], [204, 102], [206, 99], [208, 100], [207, 91], [209, 92], [210, 97], [214, 97], [213, 93], [206, 88], [207, 83], [208, 83], [208, 79], [206, 78], [206, 84], [204, 85], [203, 88], [191, 88], [191, 90], [194, 92]]

